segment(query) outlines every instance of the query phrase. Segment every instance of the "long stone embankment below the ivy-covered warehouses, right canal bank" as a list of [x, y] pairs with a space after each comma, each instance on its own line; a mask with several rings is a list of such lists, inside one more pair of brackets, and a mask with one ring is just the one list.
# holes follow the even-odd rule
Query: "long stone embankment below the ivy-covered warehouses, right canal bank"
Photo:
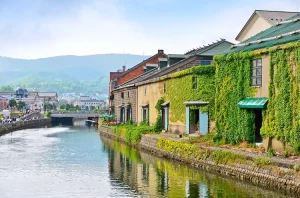
[[[113, 129], [110, 127], [99, 127], [99, 132], [101, 135], [126, 143], [124, 139], [116, 137]], [[221, 164], [215, 163], [215, 161], [210, 158], [196, 159], [186, 155], [183, 156], [179, 153], [171, 153], [163, 150], [158, 146], [159, 138], [160, 137], [156, 135], [143, 135], [139, 144], [132, 146], [146, 150], [155, 155], [178, 160], [207, 171], [238, 178], [259, 186], [279, 189], [287, 193], [300, 195], [300, 172], [281, 166], [281, 164], [275, 164], [273, 166], [256, 166], [252, 159], [247, 159], [247, 164]], [[180, 141], [178, 141], [178, 143], [180, 144]]]

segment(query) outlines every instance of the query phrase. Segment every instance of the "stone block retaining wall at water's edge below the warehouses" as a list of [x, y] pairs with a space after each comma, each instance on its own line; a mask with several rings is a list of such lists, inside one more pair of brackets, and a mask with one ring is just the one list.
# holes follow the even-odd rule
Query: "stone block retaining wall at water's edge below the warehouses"
[[[100, 134], [103, 134], [109, 138], [125, 142], [114, 135], [114, 132], [109, 127], [99, 127]], [[175, 159], [180, 162], [190, 164], [194, 167], [205, 169], [207, 171], [213, 171], [222, 175], [231, 176], [238, 178], [242, 181], [248, 181], [259, 186], [268, 187], [271, 189], [280, 189], [287, 193], [300, 194], [300, 182], [297, 175], [294, 178], [284, 177], [282, 175], [274, 175], [268, 169], [252, 167], [252, 166], [243, 166], [243, 165], [224, 165], [224, 164], [215, 164], [211, 160], [201, 160], [201, 159], [191, 159], [185, 158], [178, 154], [167, 153], [157, 147], [158, 138], [151, 135], [143, 135], [141, 141], [135, 147], [139, 149], [146, 150], [155, 155], [159, 155], [169, 159]], [[281, 167], [278, 167], [279, 169]]]

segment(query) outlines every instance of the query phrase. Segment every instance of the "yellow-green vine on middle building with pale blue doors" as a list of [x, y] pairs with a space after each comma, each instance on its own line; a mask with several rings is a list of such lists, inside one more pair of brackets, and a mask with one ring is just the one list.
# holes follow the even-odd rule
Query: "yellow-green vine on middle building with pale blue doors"
[[[193, 89], [192, 78], [197, 77], [197, 88]], [[196, 66], [173, 73], [165, 79], [166, 93], [164, 99], [170, 101], [170, 121], [185, 123], [185, 101], [208, 101], [209, 105], [201, 111], [210, 113], [214, 119], [215, 103], [215, 66]], [[191, 107], [196, 109], [199, 107]]]

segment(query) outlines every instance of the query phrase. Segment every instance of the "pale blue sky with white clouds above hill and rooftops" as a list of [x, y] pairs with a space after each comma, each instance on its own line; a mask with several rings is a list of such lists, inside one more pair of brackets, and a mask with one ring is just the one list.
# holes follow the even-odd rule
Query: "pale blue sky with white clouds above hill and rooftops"
[[299, 0], [0, 0], [0, 56], [185, 53], [235, 37], [254, 10]]

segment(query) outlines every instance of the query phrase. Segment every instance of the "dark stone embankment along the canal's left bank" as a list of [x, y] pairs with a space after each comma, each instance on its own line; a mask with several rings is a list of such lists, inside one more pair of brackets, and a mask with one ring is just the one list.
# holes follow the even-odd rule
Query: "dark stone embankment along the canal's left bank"
[[49, 125], [50, 123], [51, 123], [51, 119], [46, 118], [46, 119], [39, 119], [39, 120], [28, 120], [22, 122], [1, 124], [0, 136], [16, 130], [43, 127]]

